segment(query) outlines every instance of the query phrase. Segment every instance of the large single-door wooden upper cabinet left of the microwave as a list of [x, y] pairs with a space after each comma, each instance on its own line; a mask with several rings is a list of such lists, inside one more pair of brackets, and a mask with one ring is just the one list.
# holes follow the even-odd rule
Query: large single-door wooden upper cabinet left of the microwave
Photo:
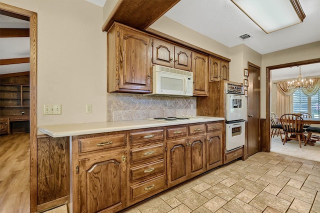
[[108, 92], [151, 92], [151, 38], [116, 23], [107, 36]]

